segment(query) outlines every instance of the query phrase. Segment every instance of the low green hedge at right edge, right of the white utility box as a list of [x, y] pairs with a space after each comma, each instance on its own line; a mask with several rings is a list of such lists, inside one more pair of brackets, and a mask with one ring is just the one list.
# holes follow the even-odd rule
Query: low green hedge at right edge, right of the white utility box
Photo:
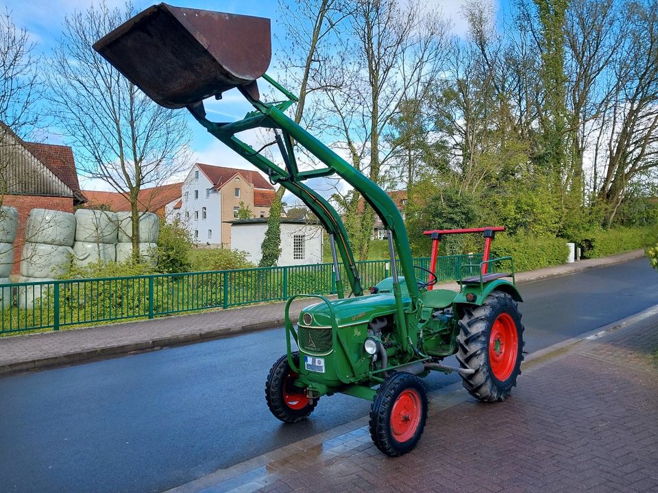
[[616, 227], [584, 233], [578, 240], [583, 258], [606, 257], [642, 249], [655, 242], [655, 229]]

